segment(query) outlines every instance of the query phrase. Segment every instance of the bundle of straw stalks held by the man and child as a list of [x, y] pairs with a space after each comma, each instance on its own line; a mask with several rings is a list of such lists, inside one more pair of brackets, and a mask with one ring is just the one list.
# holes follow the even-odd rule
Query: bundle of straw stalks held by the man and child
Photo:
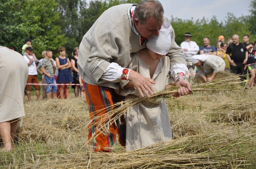
[[[234, 91], [241, 89], [241, 87], [238, 85], [241, 83], [245, 82], [240, 81], [239, 76], [233, 76], [214, 80], [207, 83], [195, 84], [191, 88], [193, 92], [202, 91], [213, 93], [215, 91]], [[138, 97], [129, 100], [123, 100], [121, 102], [117, 102], [113, 106], [109, 106], [104, 109], [98, 110], [97, 112], [102, 112], [106, 109], [111, 109], [108, 112], [108, 114], [103, 114], [98, 117], [94, 117], [93, 120], [97, 120], [98, 122], [91, 124], [91, 127], [95, 127], [98, 131], [101, 131], [101, 133], [105, 133], [105, 131], [108, 130], [108, 126], [112, 125], [113, 123], [116, 123], [117, 120], [120, 122], [120, 117], [124, 115], [132, 106], [143, 102], [151, 102], [160, 97], [170, 99], [172, 98], [172, 94], [177, 93], [177, 89], [179, 89], [179, 87], [173, 86], [169, 90], [154, 93], [154, 95], [150, 97]], [[94, 139], [97, 136], [98, 134], [93, 134], [91, 139]]]

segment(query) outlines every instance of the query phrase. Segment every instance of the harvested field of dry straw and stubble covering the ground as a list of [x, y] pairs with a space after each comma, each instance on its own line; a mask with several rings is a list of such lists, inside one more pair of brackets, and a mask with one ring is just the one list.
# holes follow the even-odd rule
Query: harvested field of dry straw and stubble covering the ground
[[[237, 85], [239, 87], [239, 85]], [[256, 88], [194, 91], [166, 100], [173, 140], [126, 152], [91, 151], [85, 98], [26, 102], [2, 168], [256, 168]]]

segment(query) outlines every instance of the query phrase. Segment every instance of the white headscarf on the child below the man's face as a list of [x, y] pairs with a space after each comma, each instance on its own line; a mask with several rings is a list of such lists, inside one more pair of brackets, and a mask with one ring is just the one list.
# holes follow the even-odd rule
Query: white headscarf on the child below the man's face
[[159, 36], [147, 39], [147, 49], [160, 55], [166, 55], [171, 47], [171, 29], [172, 27], [169, 22], [163, 22]]

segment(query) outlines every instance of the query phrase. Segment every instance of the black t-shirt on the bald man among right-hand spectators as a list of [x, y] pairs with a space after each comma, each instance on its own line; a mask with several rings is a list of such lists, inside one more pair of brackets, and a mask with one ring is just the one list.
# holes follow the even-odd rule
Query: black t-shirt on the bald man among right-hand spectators
[[[232, 46], [232, 50], [230, 49], [230, 46]], [[238, 45], [231, 43], [227, 48], [226, 54], [229, 54], [231, 60], [234, 60], [234, 62], [243, 62], [246, 51], [247, 49], [245, 45], [242, 45], [242, 43], [239, 43]]]

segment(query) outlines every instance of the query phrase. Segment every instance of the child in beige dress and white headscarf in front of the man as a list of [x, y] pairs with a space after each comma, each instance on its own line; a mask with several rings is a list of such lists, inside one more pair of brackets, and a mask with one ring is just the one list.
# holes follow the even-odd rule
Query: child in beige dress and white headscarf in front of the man
[[[155, 91], [165, 90], [174, 75], [180, 76], [175, 82], [184, 80], [187, 71], [186, 65], [183, 68], [172, 68], [170, 70], [170, 58], [166, 56], [171, 46], [171, 25], [164, 22], [159, 36], [148, 39], [147, 48], [133, 54], [129, 69], [139, 72], [144, 76]], [[131, 84], [125, 85], [120, 82], [122, 90], [120, 95], [126, 96], [125, 99], [141, 97], [139, 91]], [[181, 92], [185, 87], [181, 87]], [[187, 93], [189, 93], [186, 88]], [[174, 97], [179, 97], [175, 94]], [[151, 102], [142, 102], [129, 109], [125, 116], [126, 119], [126, 150], [134, 150], [164, 142], [172, 139], [171, 125], [166, 102], [163, 98], [155, 99]]]

